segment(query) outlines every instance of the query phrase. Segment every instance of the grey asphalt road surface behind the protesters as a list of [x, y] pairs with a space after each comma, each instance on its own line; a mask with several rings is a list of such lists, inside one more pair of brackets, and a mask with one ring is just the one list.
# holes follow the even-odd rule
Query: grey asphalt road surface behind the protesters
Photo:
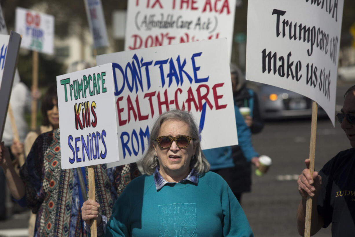
[[[340, 84], [337, 105], [342, 105], [349, 84]], [[296, 237], [296, 209], [300, 201], [296, 179], [304, 169], [310, 144], [310, 119], [267, 122], [262, 133], [253, 136], [253, 143], [260, 154], [273, 159], [269, 173], [263, 177], [253, 174], [252, 192], [242, 197], [242, 207], [256, 237]], [[338, 151], [350, 147], [348, 139], [336, 123], [329, 119], [318, 120], [315, 169], [321, 169]], [[28, 211], [11, 215], [0, 221], [1, 236], [24, 236]], [[4, 233], [5, 229], [12, 232]], [[317, 236], [330, 237], [330, 226]]]

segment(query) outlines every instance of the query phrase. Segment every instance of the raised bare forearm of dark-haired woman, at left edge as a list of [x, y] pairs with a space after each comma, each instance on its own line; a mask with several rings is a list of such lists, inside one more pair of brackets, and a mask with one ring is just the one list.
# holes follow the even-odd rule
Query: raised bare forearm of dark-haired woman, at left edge
[[14, 199], [20, 200], [25, 194], [24, 183], [15, 172], [11, 162], [10, 153], [4, 146], [4, 142], [1, 142], [0, 145], [0, 166], [2, 170], [4, 170], [11, 195]]

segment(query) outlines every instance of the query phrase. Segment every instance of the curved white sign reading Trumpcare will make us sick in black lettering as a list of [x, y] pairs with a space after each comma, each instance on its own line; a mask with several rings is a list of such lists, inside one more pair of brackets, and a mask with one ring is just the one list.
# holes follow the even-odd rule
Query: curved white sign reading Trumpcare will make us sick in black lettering
[[248, 1], [246, 78], [307, 96], [333, 125], [344, 1]]

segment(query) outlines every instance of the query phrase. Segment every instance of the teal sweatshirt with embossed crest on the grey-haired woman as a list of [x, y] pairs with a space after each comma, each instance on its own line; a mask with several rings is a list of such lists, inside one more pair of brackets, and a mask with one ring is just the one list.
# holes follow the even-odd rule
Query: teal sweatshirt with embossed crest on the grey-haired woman
[[105, 236], [251, 237], [248, 220], [225, 180], [208, 172], [198, 184], [155, 188], [153, 175], [129, 183], [114, 204]]

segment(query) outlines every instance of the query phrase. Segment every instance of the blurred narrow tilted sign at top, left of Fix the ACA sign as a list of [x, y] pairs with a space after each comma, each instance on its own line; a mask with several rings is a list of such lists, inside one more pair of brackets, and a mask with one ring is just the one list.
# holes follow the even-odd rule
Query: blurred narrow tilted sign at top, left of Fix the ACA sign
[[89, 27], [94, 39], [94, 47], [109, 46], [104, 11], [101, 0], [84, 0]]

